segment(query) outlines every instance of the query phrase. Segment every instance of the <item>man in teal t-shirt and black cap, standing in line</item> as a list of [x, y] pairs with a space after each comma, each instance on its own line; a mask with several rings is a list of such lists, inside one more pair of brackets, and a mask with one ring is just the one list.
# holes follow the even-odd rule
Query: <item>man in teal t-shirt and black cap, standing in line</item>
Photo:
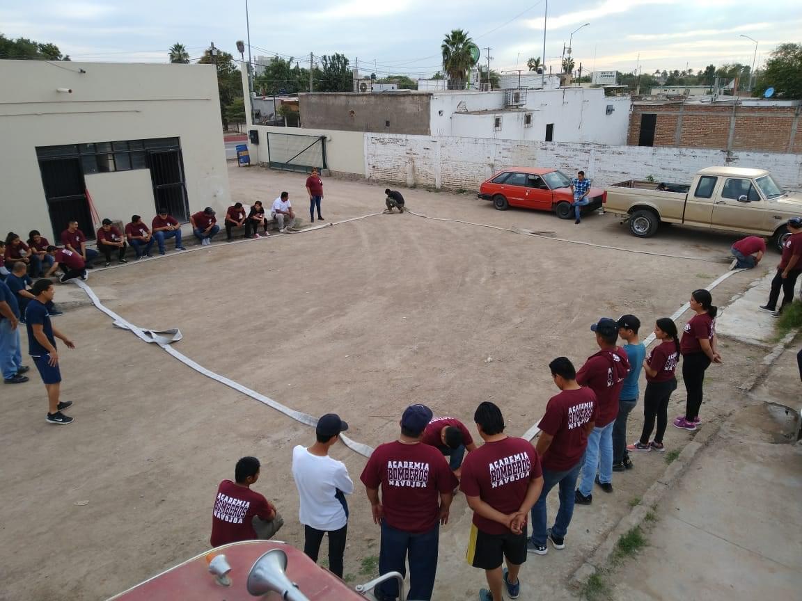
[[638, 405], [638, 378], [643, 369], [646, 347], [638, 339], [641, 321], [634, 315], [623, 315], [618, 319], [618, 336], [626, 345], [622, 346], [626, 357], [630, 360], [630, 373], [624, 380], [624, 387], [618, 396], [618, 417], [613, 426], [613, 471], [622, 472], [632, 468], [630, 454], [626, 450], [626, 420], [630, 412]]

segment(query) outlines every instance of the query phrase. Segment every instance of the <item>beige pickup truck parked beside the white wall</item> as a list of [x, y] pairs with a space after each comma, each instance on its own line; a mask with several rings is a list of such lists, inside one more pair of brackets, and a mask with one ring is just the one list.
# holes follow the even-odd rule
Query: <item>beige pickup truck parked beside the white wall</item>
[[781, 249], [786, 223], [802, 216], [802, 194], [786, 192], [765, 169], [707, 167], [691, 185], [630, 180], [607, 188], [606, 212], [630, 232], [654, 236], [661, 223], [771, 236]]

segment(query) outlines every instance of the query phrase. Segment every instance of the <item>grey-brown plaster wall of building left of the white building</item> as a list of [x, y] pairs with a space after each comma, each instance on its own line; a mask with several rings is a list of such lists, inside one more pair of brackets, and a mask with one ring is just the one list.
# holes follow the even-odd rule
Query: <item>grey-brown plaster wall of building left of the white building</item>
[[[303, 127], [339, 131], [382, 131], [428, 135], [431, 95], [392, 94], [298, 95]], [[389, 123], [389, 125], [387, 125]]]

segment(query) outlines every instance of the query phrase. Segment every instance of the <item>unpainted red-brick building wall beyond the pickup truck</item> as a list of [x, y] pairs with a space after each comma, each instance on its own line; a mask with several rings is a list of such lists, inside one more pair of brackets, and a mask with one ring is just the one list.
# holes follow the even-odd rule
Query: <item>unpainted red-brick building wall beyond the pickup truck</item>
[[638, 144], [642, 115], [657, 115], [654, 146], [799, 152], [800, 106], [635, 104], [627, 143]]

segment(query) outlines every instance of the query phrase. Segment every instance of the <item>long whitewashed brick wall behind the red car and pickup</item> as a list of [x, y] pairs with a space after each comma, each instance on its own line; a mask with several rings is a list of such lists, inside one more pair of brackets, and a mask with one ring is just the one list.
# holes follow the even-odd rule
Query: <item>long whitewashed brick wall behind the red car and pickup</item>
[[699, 148], [526, 143], [502, 139], [366, 134], [368, 179], [407, 186], [476, 190], [493, 172], [513, 165], [583, 169], [596, 185], [626, 179], [690, 182], [703, 167], [732, 165], [771, 169], [785, 188], [802, 190], [802, 156]]

